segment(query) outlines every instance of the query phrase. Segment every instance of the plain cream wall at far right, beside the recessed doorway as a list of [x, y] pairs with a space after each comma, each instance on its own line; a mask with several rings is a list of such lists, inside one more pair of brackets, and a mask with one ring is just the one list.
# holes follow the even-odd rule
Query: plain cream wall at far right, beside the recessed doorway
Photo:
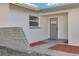
[[69, 10], [68, 24], [69, 44], [79, 46], [79, 8]]

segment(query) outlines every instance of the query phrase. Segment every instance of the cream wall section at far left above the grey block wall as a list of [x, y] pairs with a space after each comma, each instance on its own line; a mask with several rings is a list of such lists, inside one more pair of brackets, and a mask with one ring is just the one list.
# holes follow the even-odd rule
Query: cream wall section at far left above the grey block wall
[[0, 27], [5, 27], [9, 18], [9, 4], [0, 3]]

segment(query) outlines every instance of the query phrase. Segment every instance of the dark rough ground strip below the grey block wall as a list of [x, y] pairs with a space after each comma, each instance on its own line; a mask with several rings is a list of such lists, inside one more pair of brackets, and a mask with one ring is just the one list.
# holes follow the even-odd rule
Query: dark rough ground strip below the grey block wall
[[48, 56], [47, 54], [40, 54], [34, 51], [21, 52], [18, 50], [13, 50], [11, 48], [6, 48], [0, 46], [0, 56]]

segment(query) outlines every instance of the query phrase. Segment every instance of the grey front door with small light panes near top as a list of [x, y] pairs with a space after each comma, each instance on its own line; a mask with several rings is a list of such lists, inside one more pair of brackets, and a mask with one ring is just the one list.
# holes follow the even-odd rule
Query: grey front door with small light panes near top
[[50, 39], [58, 38], [58, 18], [50, 18]]

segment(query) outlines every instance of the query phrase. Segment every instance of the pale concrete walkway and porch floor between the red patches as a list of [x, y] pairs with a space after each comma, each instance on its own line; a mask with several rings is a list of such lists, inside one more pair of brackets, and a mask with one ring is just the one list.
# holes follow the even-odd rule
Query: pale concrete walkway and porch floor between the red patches
[[44, 42], [47, 42], [47, 44], [39, 45], [32, 47], [31, 50], [36, 51], [38, 53], [43, 53], [43, 54], [48, 54], [51, 56], [74, 56], [74, 55], [79, 55], [79, 54], [72, 54], [72, 53], [66, 53], [66, 52], [61, 52], [61, 51], [55, 51], [48, 49], [51, 46], [54, 46], [56, 44], [67, 44], [64, 43], [67, 40], [44, 40]]

